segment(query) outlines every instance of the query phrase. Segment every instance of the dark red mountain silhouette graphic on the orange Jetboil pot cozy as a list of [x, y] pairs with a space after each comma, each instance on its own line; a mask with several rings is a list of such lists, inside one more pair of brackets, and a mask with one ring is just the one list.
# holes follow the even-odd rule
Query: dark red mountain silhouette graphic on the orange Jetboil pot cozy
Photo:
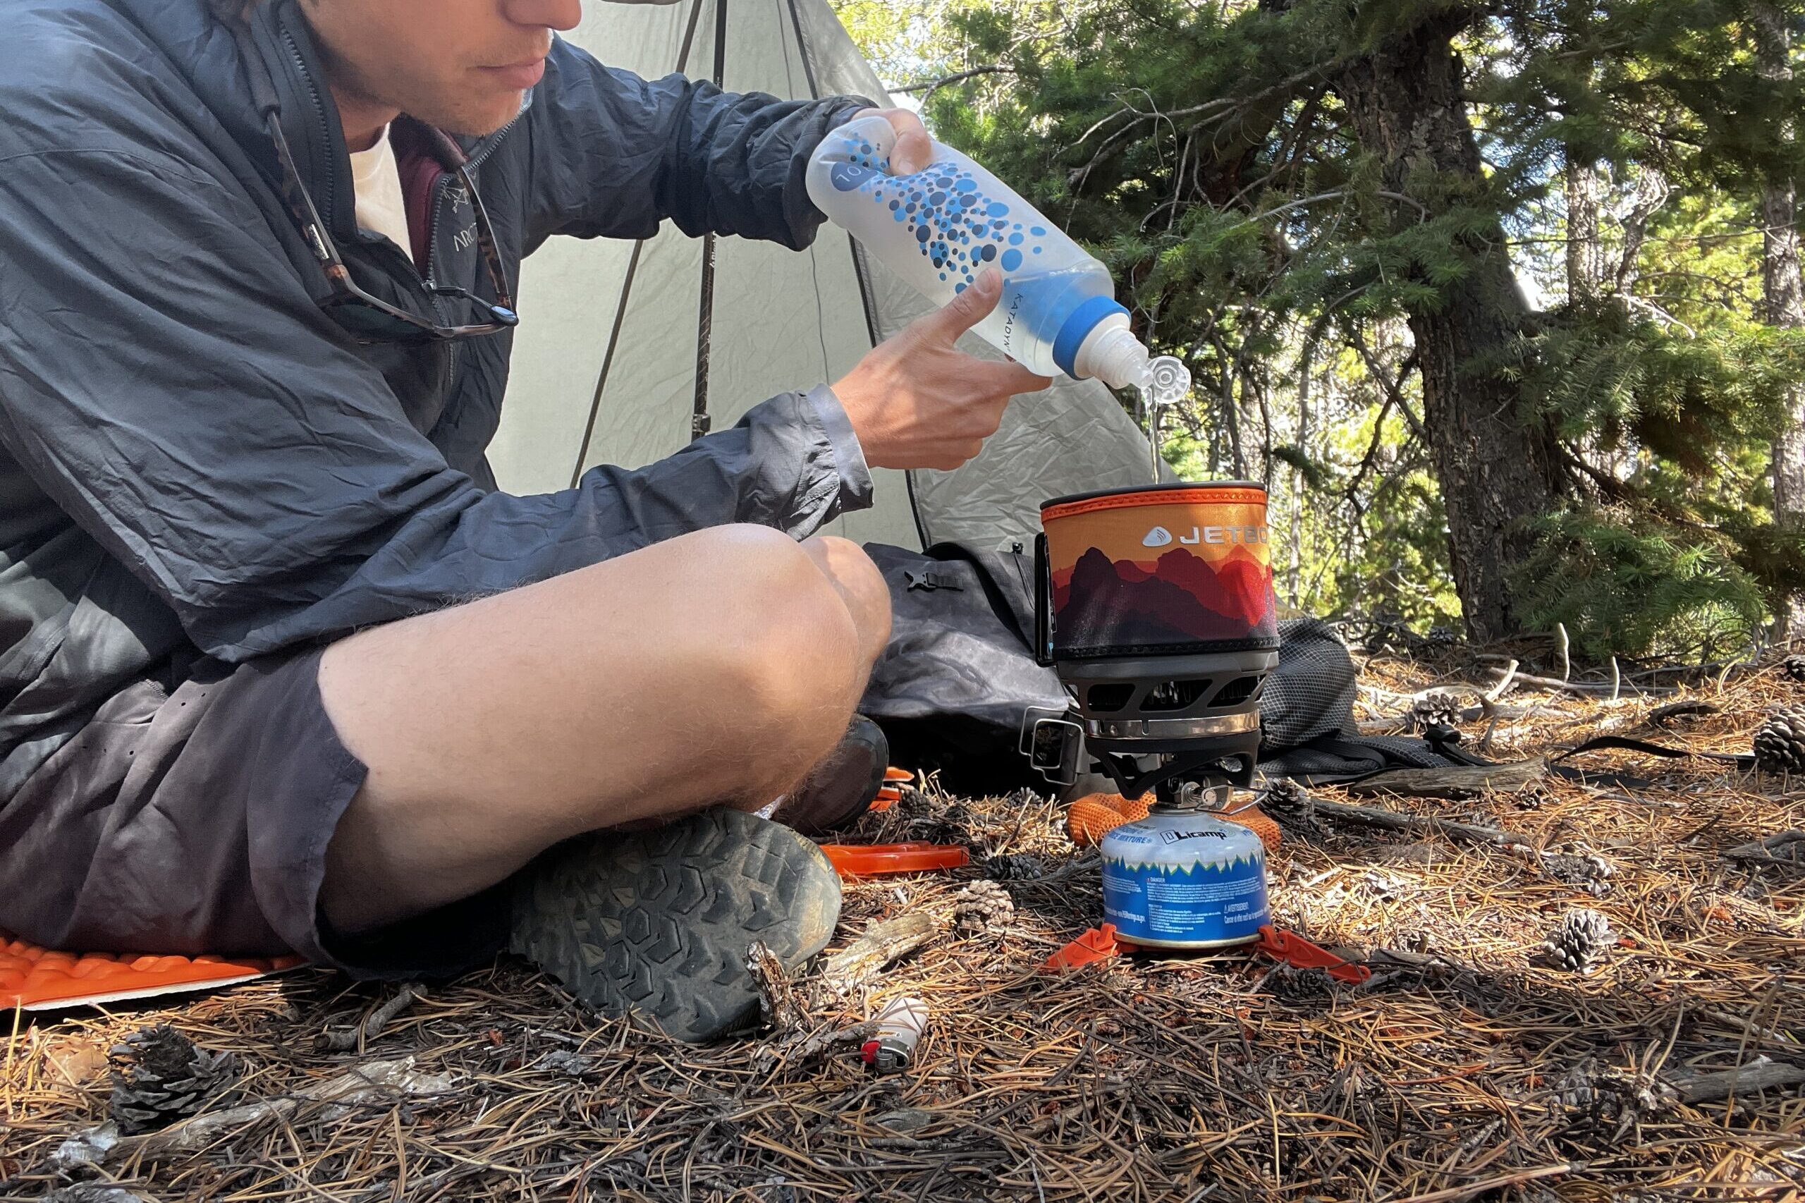
[[1092, 547], [1052, 576], [1058, 643], [1162, 645], [1274, 634], [1273, 569], [1245, 547], [1218, 565], [1175, 547], [1153, 564]]

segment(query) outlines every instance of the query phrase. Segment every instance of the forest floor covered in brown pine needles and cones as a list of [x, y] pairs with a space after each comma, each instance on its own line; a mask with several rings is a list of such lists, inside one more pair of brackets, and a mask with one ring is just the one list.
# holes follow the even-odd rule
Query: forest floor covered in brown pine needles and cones
[[[1437, 654], [1370, 661], [1363, 717], [1402, 730], [1408, 697], [1486, 683], [1458, 648]], [[1489, 753], [1599, 732], [1742, 753], [1801, 694], [1780, 665], [1619, 701], [1518, 688]], [[1715, 712], [1648, 724], [1675, 701]], [[1486, 726], [1466, 723], [1469, 744]], [[1365, 986], [1247, 956], [1040, 975], [1101, 919], [1096, 851], [1069, 842], [1052, 802], [930, 788], [859, 836], [960, 838], [973, 865], [848, 887], [830, 950], [902, 914], [939, 934], [814, 1004], [816, 1022], [852, 1024], [924, 999], [915, 1062], [888, 1077], [847, 1049], [800, 1062], [760, 1057], [756, 1037], [646, 1037], [576, 1012], [520, 963], [408, 999], [300, 970], [180, 1004], [20, 1017], [0, 1069], [0, 1199], [1796, 1199], [1805, 878], [1783, 844], [1738, 849], [1805, 827], [1805, 780], [1585, 764], [1650, 784], [1545, 779], [1453, 802], [1312, 791], [1532, 845], [1287, 825], [1276, 918], [1366, 956]], [[1009, 872], [967, 891], [986, 863]], [[70, 1158], [65, 1142], [108, 1116], [110, 1051], [155, 1024], [197, 1051], [170, 1053], [179, 1089], [141, 1093], [139, 1113], [218, 1078], [200, 1113], [217, 1118]]]

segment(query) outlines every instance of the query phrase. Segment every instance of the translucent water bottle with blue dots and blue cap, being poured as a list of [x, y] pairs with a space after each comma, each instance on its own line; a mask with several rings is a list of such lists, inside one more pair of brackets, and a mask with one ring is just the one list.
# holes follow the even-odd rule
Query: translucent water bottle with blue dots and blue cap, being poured
[[1155, 405], [1189, 392], [1184, 365], [1152, 359], [1128, 329], [1108, 267], [951, 146], [933, 143], [928, 168], [890, 175], [895, 139], [886, 117], [828, 132], [809, 159], [814, 206], [935, 303], [964, 293], [987, 267], [1002, 271], [996, 309], [975, 329], [1041, 376], [1094, 376], [1112, 388], [1139, 388]]

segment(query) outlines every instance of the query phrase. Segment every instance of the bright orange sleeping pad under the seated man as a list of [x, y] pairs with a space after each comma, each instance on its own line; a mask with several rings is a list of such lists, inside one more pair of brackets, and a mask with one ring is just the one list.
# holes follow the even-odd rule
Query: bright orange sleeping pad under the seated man
[[229, 986], [294, 968], [301, 957], [159, 957], [54, 952], [0, 932], [0, 1008], [43, 1012]]

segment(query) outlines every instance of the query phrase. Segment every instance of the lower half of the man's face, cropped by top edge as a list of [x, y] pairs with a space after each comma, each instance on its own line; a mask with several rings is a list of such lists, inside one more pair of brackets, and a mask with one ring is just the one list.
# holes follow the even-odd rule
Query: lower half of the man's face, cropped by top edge
[[489, 134], [545, 74], [581, 0], [301, 0], [334, 90], [451, 134]]

